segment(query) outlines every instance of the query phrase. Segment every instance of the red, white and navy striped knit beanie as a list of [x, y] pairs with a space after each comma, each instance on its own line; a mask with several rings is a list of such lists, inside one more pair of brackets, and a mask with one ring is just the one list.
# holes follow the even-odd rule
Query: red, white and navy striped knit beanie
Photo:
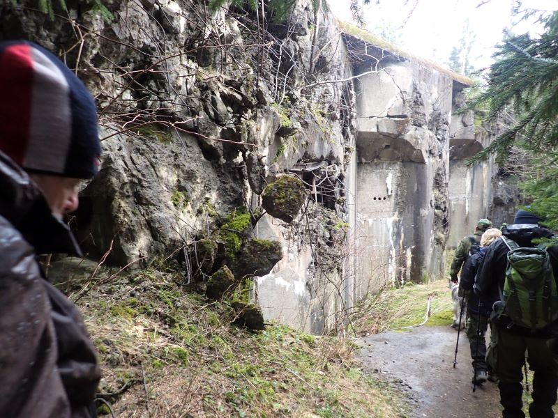
[[95, 101], [56, 56], [0, 42], [0, 151], [28, 171], [92, 178], [100, 143]]

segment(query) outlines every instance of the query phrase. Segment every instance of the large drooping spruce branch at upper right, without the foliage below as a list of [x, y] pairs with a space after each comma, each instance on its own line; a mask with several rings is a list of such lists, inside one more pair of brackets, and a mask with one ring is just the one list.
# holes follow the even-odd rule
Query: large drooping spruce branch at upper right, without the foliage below
[[469, 164], [492, 154], [504, 162], [514, 144], [533, 153], [558, 146], [558, 12], [545, 18], [540, 38], [511, 36], [498, 49], [488, 88], [468, 108], [488, 104], [488, 121], [512, 109], [517, 120]]

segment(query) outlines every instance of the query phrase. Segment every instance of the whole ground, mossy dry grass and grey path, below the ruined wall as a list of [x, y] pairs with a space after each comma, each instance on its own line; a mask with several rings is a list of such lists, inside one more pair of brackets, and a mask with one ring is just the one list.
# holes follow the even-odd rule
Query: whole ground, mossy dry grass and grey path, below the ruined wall
[[101, 416], [499, 416], [494, 383], [472, 392], [464, 333], [453, 368], [446, 281], [386, 288], [357, 307], [357, 337], [339, 338], [237, 327], [227, 302], [188, 291], [173, 270], [93, 275], [59, 287], [77, 301], [99, 353]]

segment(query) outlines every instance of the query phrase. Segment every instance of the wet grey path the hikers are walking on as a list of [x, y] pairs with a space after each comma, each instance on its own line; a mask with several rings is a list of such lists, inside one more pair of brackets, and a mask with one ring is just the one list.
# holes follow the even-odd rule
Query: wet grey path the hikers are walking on
[[376, 334], [357, 343], [365, 369], [409, 392], [412, 418], [501, 417], [495, 383], [485, 382], [472, 392], [473, 369], [464, 332], [453, 369], [456, 337], [451, 327], [416, 327]]

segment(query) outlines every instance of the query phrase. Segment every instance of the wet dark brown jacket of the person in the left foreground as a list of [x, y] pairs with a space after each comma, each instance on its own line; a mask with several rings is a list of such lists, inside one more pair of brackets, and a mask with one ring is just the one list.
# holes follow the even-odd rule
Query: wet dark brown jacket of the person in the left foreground
[[80, 313], [37, 254], [80, 254], [27, 173], [0, 153], [0, 417], [89, 417], [100, 370]]

